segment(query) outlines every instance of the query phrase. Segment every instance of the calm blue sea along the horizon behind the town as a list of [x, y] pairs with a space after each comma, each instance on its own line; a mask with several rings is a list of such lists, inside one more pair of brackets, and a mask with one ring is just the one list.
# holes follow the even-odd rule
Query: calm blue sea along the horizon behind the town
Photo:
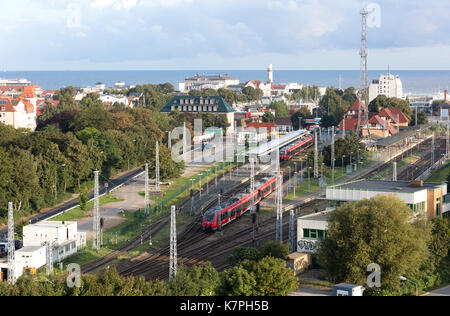
[[[378, 79], [386, 70], [369, 71], [369, 83]], [[434, 95], [450, 88], [450, 71], [434, 70], [391, 70], [403, 83], [404, 94]], [[228, 74], [240, 82], [267, 80], [264, 70], [142, 70], [142, 71], [0, 71], [0, 78], [26, 78], [44, 90], [56, 90], [66, 86], [88, 87], [98, 82], [113, 87], [124, 81], [126, 85], [148, 83], [178, 83], [195, 74]], [[336, 88], [359, 87], [359, 70], [275, 70], [276, 83], [298, 82], [304, 85], [318, 85]]]

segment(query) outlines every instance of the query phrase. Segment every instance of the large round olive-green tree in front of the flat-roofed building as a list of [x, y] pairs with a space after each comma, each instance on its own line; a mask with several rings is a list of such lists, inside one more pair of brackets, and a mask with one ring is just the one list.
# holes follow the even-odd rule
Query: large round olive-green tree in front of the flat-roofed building
[[381, 267], [381, 288], [367, 292], [397, 291], [399, 276], [417, 273], [428, 255], [426, 221], [411, 219], [411, 209], [395, 196], [377, 196], [338, 208], [317, 253], [328, 279], [365, 284], [367, 266], [376, 263]]

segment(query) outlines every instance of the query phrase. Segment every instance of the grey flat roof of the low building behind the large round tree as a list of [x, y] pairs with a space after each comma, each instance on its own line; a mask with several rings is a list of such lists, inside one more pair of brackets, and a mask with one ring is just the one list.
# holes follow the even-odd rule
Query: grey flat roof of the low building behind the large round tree
[[424, 182], [423, 187], [411, 186], [407, 181], [359, 180], [329, 187], [330, 190], [361, 190], [378, 192], [415, 193], [423, 190], [437, 189], [445, 183]]

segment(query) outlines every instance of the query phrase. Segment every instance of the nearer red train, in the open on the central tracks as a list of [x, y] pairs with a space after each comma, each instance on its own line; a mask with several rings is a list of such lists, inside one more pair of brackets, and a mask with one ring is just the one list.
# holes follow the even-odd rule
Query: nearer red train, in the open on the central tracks
[[206, 211], [202, 221], [203, 230], [213, 232], [232, 223], [251, 209], [252, 197], [254, 197], [254, 205], [256, 205], [275, 191], [276, 182], [276, 176], [264, 178], [255, 184], [257, 189], [254, 192], [235, 197]]

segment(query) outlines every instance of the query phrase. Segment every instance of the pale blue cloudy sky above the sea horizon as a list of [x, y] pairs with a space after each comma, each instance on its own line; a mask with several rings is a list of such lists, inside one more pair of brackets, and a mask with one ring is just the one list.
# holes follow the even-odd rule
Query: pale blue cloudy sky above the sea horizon
[[448, 0], [1, 0], [0, 70], [450, 70]]

